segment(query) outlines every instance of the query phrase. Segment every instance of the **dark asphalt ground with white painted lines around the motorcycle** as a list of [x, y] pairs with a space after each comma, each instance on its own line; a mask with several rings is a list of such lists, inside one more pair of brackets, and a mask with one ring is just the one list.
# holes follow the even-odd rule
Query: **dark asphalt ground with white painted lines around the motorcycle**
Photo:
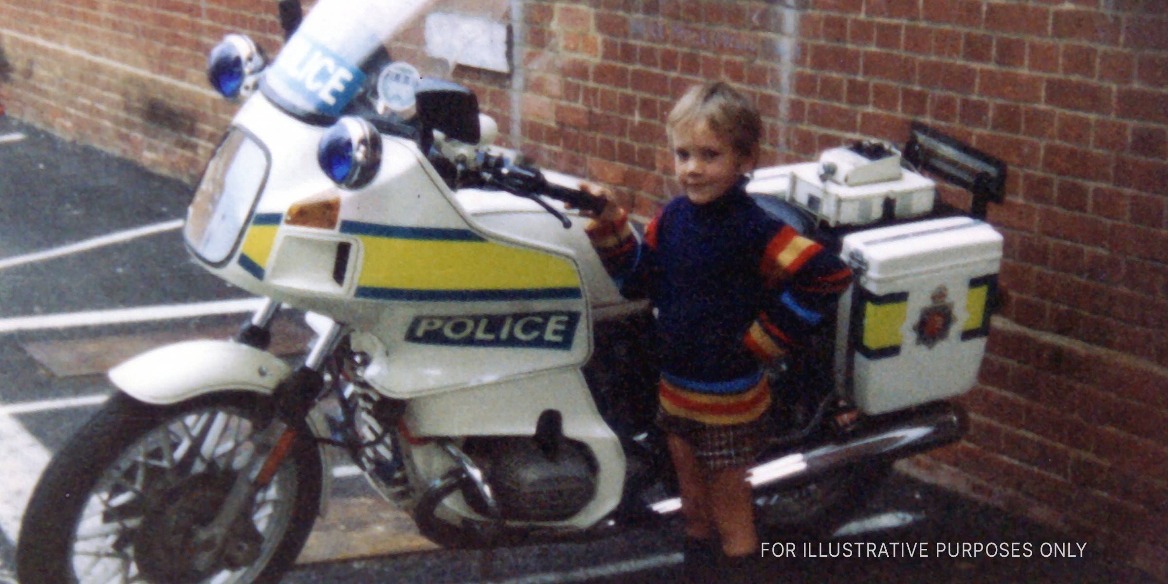
[[[189, 196], [189, 186], [0, 116], [0, 582], [11, 578], [16, 529], [40, 468], [113, 390], [104, 369], [151, 342], [225, 332], [242, 318], [214, 311], [141, 317], [144, 307], [248, 298], [187, 258], [176, 221]], [[117, 234], [130, 235], [102, 239]], [[70, 248], [78, 242], [90, 243]], [[672, 583], [680, 577], [675, 520], [591, 541], [472, 551], [423, 545], [389, 554], [392, 545], [385, 544], [397, 541], [391, 535], [409, 531], [404, 517], [383, 513], [384, 503], [352, 473], [338, 477], [333, 496], [340, 510], [314, 534], [322, 551], [285, 582]], [[362, 516], [362, 510], [369, 512]], [[764, 534], [764, 542], [772, 550], [764, 562], [774, 582], [1156, 582], [1083, 541], [899, 474], [835, 536]]]

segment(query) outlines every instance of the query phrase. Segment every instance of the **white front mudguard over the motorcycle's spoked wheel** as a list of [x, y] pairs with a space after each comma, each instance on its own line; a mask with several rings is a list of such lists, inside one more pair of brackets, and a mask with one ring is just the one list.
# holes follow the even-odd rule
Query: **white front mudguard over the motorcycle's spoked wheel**
[[[291, 373], [276, 355], [231, 341], [185, 341], [147, 350], [113, 369], [110, 381], [134, 399], [172, 405], [216, 391], [255, 391], [266, 396]], [[328, 438], [328, 420], [320, 409], [308, 412], [308, 427], [317, 438]], [[320, 443], [324, 515], [332, 491], [332, 452]]]

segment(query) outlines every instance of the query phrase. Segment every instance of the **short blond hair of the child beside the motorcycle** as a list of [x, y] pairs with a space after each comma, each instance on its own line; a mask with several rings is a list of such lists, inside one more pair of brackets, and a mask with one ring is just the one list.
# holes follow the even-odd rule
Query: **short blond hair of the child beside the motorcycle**
[[721, 81], [694, 85], [681, 96], [665, 120], [665, 130], [673, 142], [679, 127], [705, 121], [710, 130], [726, 138], [738, 155], [758, 157], [763, 135], [763, 119], [758, 110], [742, 93]]

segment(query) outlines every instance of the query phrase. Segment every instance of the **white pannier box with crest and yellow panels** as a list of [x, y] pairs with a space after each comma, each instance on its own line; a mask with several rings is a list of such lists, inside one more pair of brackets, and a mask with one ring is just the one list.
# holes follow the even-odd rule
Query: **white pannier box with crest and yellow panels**
[[[850, 234], [835, 374], [875, 415], [968, 391], [989, 333], [1002, 236], [969, 217]], [[847, 322], [847, 326], [842, 326]]]

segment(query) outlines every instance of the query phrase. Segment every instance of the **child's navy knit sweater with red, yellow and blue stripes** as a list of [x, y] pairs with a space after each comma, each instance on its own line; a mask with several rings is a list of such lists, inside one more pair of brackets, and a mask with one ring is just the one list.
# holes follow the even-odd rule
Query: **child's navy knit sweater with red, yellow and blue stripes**
[[707, 424], [762, 416], [760, 361], [798, 349], [851, 283], [840, 258], [766, 215], [743, 185], [707, 204], [673, 200], [641, 244], [624, 211], [589, 227], [621, 292], [658, 308], [661, 406]]

